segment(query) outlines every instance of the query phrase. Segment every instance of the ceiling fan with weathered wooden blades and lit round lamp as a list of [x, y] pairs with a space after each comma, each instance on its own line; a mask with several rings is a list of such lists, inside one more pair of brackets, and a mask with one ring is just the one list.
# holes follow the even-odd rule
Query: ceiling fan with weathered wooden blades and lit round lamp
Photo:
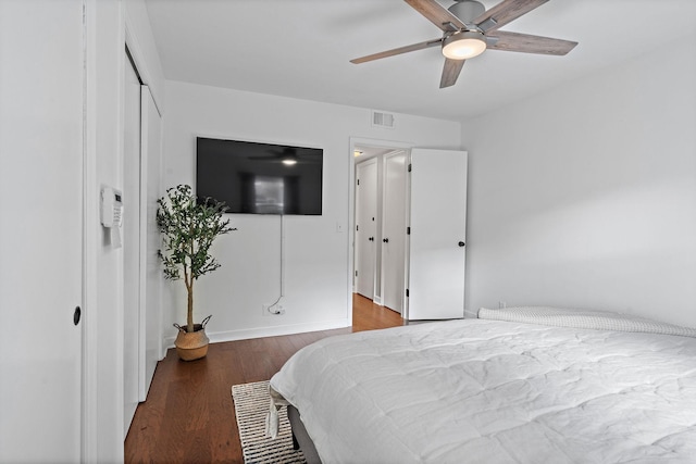
[[504, 0], [488, 11], [475, 0], [455, 0], [456, 3], [447, 10], [435, 0], [405, 1], [439, 27], [443, 37], [357, 58], [350, 60], [351, 63], [365, 63], [415, 50], [442, 47], [445, 67], [439, 88], [445, 88], [455, 85], [464, 61], [480, 55], [486, 49], [564, 55], [577, 45], [570, 40], [498, 30], [499, 27], [548, 0]]

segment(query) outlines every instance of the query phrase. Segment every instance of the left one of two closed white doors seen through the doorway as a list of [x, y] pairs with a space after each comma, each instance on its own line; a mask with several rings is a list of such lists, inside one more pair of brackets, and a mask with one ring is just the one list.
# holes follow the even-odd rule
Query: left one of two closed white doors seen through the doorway
[[356, 291], [374, 299], [377, 216], [377, 161], [357, 165], [356, 179]]

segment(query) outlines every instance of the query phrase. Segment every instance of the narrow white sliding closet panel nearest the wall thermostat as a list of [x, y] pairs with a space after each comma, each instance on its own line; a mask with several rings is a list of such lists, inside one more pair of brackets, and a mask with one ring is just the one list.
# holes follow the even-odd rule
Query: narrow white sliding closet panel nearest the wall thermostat
[[123, 168], [124, 431], [139, 402], [140, 381], [140, 80], [125, 57]]

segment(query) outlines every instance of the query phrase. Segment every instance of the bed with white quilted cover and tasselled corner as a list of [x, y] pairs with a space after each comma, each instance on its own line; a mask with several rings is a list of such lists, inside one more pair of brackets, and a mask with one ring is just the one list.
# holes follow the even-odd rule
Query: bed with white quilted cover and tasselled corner
[[[331, 337], [271, 379], [330, 463], [696, 462], [696, 329], [550, 308]], [[311, 455], [311, 452], [309, 453]]]

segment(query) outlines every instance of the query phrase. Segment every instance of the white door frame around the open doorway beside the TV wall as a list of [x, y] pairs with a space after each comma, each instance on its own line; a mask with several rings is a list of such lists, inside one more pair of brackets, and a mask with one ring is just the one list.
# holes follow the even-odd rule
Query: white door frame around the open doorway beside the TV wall
[[348, 321], [352, 321], [352, 290], [353, 290], [353, 276], [355, 276], [355, 252], [356, 252], [356, 147], [368, 146], [384, 149], [394, 150], [411, 150], [414, 148], [413, 143], [406, 143], [394, 140], [381, 140], [362, 137], [349, 138], [349, 163], [350, 179], [348, 181], [348, 230], [350, 234], [348, 240], [348, 275], [346, 281], [346, 294], [348, 297]]

